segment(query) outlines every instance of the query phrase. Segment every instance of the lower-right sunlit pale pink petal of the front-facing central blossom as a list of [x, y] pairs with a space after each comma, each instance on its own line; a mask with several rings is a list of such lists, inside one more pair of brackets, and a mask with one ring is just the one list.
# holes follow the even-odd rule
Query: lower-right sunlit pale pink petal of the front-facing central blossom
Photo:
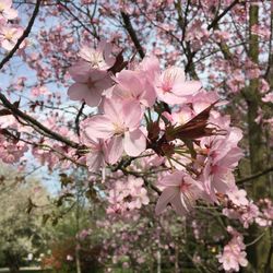
[[144, 152], [145, 149], [146, 138], [140, 129], [124, 133], [124, 151], [128, 155], [138, 156]]

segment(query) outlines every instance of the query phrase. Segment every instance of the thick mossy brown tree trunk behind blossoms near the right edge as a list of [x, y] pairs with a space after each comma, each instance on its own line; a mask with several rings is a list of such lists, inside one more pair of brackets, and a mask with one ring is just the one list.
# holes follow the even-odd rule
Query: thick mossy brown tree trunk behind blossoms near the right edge
[[[259, 24], [259, 7], [250, 5], [249, 10], [249, 58], [259, 63], [259, 39], [258, 35], [251, 32], [251, 27]], [[249, 156], [251, 174], [256, 174], [264, 169], [265, 166], [265, 145], [263, 143], [263, 128], [256, 119], [259, 115], [259, 105], [261, 94], [259, 92], [259, 80], [250, 80], [249, 86], [245, 92], [246, 102], [248, 105], [248, 135], [249, 135]], [[252, 181], [250, 192], [252, 199], [258, 201], [266, 197], [266, 177], [261, 176]], [[260, 236], [259, 228], [252, 225], [249, 228], [248, 241], [254, 241]], [[270, 234], [266, 233], [258, 242], [250, 246], [248, 249], [248, 259], [252, 263], [254, 272], [264, 272], [264, 266], [270, 252]], [[273, 271], [272, 271], [273, 272]]]

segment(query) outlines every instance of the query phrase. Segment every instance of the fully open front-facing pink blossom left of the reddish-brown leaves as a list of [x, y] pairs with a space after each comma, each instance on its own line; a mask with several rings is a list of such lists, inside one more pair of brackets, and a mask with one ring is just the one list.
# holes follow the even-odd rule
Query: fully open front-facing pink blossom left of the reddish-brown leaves
[[146, 147], [146, 138], [140, 129], [142, 112], [134, 103], [106, 99], [104, 114], [87, 119], [85, 134], [106, 140], [106, 158], [116, 163], [123, 151], [130, 156], [140, 155]]

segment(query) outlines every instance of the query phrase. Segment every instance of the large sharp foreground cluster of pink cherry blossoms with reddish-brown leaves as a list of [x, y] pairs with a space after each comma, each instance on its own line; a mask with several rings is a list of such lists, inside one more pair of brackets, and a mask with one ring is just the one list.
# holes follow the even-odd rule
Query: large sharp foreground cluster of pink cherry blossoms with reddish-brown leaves
[[[169, 168], [157, 183], [163, 190], [157, 214], [167, 204], [185, 215], [198, 200], [235, 200], [233, 170], [242, 157], [237, 146], [242, 133], [230, 127], [228, 116], [213, 110], [223, 104], [217, 94], [202, 90], [199, 81], [188, 81], [181, 68], [162, 71], [154, 56], [128, 63], [121, 52], [115, 57], [110, 50], [106, 41], [96, 49], [83, 46], [81, 60], [70, 69], [75, 81], [70, 98], [98, 107], [97, 115], [81, 123], [88, 169], [151, 150], [163, 158], [159, 165]], [[111, 201], [119, 197], [117, 191], [111, 191]]]

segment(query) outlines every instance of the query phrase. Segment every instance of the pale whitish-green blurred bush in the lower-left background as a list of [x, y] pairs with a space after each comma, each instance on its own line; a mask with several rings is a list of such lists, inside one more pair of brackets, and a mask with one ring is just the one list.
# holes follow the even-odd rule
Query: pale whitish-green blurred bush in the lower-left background
[[37, 217], [38, 203], [47, 204], [46, 190], [34, 179], [19, 179], [13, 169], [0, 166], [0, 266], [19, 268], [46, 249], [49, 234]]

